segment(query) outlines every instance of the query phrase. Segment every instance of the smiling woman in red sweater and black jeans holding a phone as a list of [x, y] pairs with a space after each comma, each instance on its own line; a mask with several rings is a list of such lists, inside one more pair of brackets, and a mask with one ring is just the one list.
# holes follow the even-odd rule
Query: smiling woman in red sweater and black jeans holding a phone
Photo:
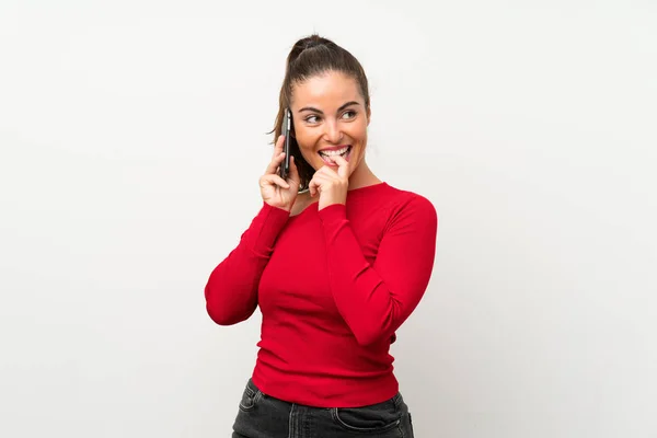
[[[293, 128], [284, 181], [286, 108]], [[438, 220], [425, 197], [367, 165], [370, 114], [351, 54], [318, 35], [295, 44], [262, 209], [205, 288], [217, 324], [258, 306], [263, 315], [233, 438], [413, 437], [389, 349], [426, 290]]]

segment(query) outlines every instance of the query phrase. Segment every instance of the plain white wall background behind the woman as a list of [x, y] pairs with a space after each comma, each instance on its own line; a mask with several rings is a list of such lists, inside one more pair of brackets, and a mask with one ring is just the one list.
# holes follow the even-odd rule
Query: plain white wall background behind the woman
[[260, 314], [205, 312], [285, 57], [358, 57], [434, 201], [393, 346], [417, 437], [657, 436], [654, 1], [0, 2], [0, 436], [228, 437]]

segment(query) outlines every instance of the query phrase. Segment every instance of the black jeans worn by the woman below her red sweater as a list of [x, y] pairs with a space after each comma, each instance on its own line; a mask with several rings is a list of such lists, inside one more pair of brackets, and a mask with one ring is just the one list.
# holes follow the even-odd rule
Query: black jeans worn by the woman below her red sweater
[[311, 407], [264, 394], [249, 379], [232, 438], [413, 438], [401, 393], [362, 407]]

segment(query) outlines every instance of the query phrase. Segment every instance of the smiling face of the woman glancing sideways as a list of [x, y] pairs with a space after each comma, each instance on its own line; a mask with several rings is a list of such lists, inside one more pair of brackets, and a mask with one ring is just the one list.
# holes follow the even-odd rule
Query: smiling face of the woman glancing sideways
[[356, 81], [328, 71], [292, 88], [290, 105], [295, 136], [301, 154], [316, 171], [337, 169], [328, 154], [341, 154], [353, 173], [365, 157], [370, 112]]

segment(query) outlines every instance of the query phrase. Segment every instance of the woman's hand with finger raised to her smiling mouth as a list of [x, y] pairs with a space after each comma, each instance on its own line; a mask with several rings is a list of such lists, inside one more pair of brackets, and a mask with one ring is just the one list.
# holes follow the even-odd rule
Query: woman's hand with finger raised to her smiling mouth
[[323, 165], [314, 173], [308, 188], [310, 196], [320, 194], [318, 209], [328, 207], [333, 204], [346, 204], [347, 189], [349, 188], [349, 162], [336, 155], [330, 157], [337, 164], [337, 171], [332, 166]]

